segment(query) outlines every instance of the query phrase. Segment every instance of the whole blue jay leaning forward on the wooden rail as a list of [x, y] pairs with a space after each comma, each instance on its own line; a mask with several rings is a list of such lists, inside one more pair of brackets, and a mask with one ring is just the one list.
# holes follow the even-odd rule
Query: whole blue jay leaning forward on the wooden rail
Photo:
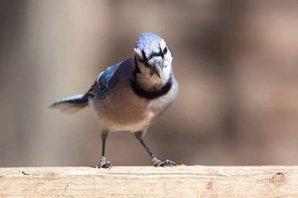
[[98, 168], [111, 168], [105, 158], [109, 133], [130, 131], [146, 148], [155, 167], [176, 165], [157, 159], [144, 142], [148, 128], [176, 99], [178, 83], [172, 71], [173, 55], [165, 41], [144, 32], [138, 39], [134, 56], [101, 72], [86, 94], [57, 100], [50, 108], [74, 114], [89, 106], [102, 128], [102, 156]]

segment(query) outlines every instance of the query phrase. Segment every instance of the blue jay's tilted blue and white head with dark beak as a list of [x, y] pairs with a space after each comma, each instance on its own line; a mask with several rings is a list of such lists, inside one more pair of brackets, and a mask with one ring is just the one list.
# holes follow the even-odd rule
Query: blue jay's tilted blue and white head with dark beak
[[135, 59], [141, 72], [156, 75], [161, 81], [169, 79], [173, 55], [158, 35], [144, 32], [140, 36], [135, 47]]

